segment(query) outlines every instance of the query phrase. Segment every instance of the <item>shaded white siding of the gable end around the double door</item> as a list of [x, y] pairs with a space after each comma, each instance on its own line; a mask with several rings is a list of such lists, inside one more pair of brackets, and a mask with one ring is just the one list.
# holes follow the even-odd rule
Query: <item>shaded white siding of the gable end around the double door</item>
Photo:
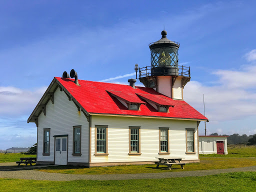
[[[81, 156], [72, 156], [73, 126], [81, 125]], [[50, 128], [50, 155], [42, 156], [43, 128]], [[88, 162], [88, 122], [84, 114], [77, 111], [73, 101], [69, 101], [64, 91], [59, 88], [54, 92], [54, 104], [46, 105], [38, 117], [38, 161], [54, 161], [53, 135], [68, 134], [68, 162]]]

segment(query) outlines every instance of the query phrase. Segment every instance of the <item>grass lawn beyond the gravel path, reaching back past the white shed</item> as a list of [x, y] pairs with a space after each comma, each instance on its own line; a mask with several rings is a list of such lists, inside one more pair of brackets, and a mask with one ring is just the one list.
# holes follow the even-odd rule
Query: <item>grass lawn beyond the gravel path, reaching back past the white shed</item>
[[[233, 168], [256, 165], [256, 147], [228, 148], [227, 155], [221, 154], [200, 154], [200, 163], [189, 163], [180, 169], [180, 165], [172, 165], [171, 171], [189, 171], [189, 170], [205, 170], [219, 168]], [[44, 172], [58, 172], [66, 174], [127, 174], [127, 173], [150, 173], [150, 172], [166, 172], [169, 171], [166, 166], [160, 165], [155, 168], [155, 164], [144, 165], [119, 165], [107, 167], [90, 167], [83, 166], [54, 166], [37, 169]]]

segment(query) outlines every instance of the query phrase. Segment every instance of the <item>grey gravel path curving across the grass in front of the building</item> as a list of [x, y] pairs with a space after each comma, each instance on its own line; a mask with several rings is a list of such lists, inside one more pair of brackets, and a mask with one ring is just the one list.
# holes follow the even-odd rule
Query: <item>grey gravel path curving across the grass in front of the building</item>
[[[1, 163], [0, 163], [1, 166]], [[29, 168], [29, 167], [27, 167]], [[226, 169], [211, 169], [211, 170], [193, 170], [180, 172], [159, 172], [159, 173], [136, 173], [136, 174], [63, 174], [49, 173], [37, 170], [29, 170], [20, 167], [19, 169], [0, 169], [0, 178], [20, 178], [34, 180], [125, 180], [125, 179], [142, 179], [142, 178], [169, 178], [169, 177], [185, 177], [185, 176], [205, 176], [226, 172], [238, 171], [256, 171], [256, 166], [226, 168]]]

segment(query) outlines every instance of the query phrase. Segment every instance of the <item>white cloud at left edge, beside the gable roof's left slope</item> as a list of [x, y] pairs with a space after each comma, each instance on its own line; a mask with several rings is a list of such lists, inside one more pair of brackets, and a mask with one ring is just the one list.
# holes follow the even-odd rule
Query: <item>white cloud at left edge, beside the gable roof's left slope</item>
[[30, 114], [45, 90], [46, 87], [25, 90], [11, 86], [0, 86], [0, 116], [18, 117]]

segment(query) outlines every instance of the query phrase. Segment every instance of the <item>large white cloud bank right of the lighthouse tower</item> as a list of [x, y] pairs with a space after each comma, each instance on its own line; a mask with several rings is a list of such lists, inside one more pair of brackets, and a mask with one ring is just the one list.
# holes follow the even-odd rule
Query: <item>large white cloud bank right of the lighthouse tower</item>
[[256, 67], [250, 68], [252, 71], [217, 70], [213, 74], [219, 80], [214, 86], [190, 81], [184, 88], [184, 100], [203, 113], [204, 94], [206, 117], [212, 123], [256, 115], [256, 85], [251, 80], [256, 80], [252, 75]]

